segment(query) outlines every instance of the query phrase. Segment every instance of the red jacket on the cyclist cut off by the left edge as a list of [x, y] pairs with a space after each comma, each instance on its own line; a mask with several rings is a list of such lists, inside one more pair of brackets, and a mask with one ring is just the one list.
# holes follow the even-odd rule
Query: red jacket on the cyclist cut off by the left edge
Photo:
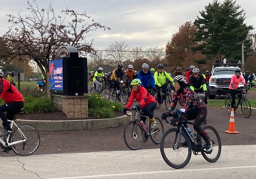
[[24, 102], [22, 94], [9, 82], [2, 78], [0, 80], [0, 97], [3, 98], [5, 103], [11, 103], [13, 101]]

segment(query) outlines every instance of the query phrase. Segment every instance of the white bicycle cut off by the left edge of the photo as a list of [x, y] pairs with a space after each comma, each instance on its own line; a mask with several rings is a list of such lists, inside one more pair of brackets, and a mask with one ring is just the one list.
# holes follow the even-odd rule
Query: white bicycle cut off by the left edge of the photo
[[[22, 114], [24, 112], [20, 111], [16, 114]], [[16, 115], [15, 114], [15, 115]], [[0, 146], [4, 152], [9, 152], [12, 150], [14, 153], [20, 156], [28, 156], [36, 152], [40, 144], [40, 135], [35, 128], [29, 125], [17, 125], [13, 118], [10, 122], [10, 127], [14, 125], [16, 128], [4, 140], [0, 138]], [[1, 137], [1, 135], [0, 135]], [[34, 144], [33, 144], [34, 143]]]

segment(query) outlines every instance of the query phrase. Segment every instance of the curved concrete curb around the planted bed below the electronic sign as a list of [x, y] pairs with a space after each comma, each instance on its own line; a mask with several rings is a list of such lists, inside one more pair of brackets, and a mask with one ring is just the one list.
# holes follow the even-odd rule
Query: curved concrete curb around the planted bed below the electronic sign
[[[22, 120], [15, 121], [18, 125], [30, 125], [36, 130], [44, 131], [61, 131], [61, 130], [87, 130], [87, 129], [103, 129], [110, 127], [118, 127], [126, 125], [132, 121], [132, 113], [127, 112], [131, 116], [120, 116], [111, 119], [91, 119], [91, 120], [69, 120], [69, 121], [38, 121], [38, 120]], [[2, 125], [0, 125], [2, 127]]]

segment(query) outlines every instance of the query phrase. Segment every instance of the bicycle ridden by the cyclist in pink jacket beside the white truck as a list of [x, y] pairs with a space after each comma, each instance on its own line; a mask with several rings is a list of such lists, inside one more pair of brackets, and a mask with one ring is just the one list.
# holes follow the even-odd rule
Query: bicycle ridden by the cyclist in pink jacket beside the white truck
[[[238, 106], [241, 105], [241, 111], [242, 111], [244, 117], [249, 118], [251, 116], [252, 109], [251, 109], [250, 102], [248, 101], [248, 99], [245, 98], [246, 89], [236, 89], [236, 91], [238, 91], [239, 93], [236, 94], [235, 98], [238, 97], [239, 94], [241, 94], [241, 93], [242, 93], [242, 96], [241, 96], [241, 98], [238, 99], [237, 105], [236, 105], [236, 101], [235, 101], [234, 112], [236, 111]], [[231, 113], [231, 103], [232, 103], [232, 97], [231, 97], [231, 95], [228, 95], [225, 99], [225, 107], [229, 114]]]

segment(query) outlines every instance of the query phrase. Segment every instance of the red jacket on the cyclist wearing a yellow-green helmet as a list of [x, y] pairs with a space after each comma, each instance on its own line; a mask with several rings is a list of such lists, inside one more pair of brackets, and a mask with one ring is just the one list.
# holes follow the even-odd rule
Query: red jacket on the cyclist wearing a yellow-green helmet
[[140, 103], [141, 108], [145, 108], [149, 103], [156, 103], [156, 99], [143, 86], [140, 86], [137, 92], [132, 89], [131, 97], [126, 105], [127, 109], [131, 108], [134, 98]]

